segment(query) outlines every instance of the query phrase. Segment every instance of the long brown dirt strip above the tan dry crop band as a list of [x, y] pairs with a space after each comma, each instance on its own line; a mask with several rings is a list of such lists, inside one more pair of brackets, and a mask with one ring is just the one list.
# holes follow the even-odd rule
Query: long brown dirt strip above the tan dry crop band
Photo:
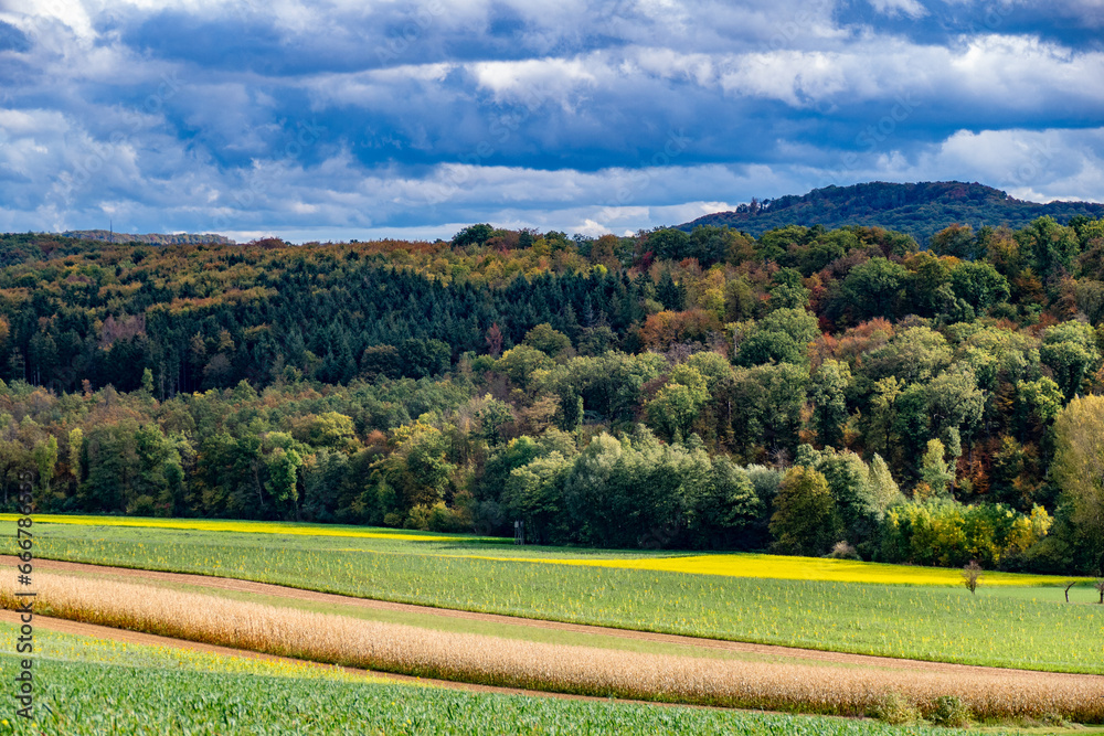
[[[17, 564], [17, 558], [7, 555], [0, 555], [0, 563], [6, 565]], [[395, 604], [384, 600], [373, 600], [369, 598], [355, 598], [352, 596], [342, 596], [330, 593], [318, 593], [315, 590], [304, 590], [300, 588], [291, 588], [282, 585], [272, 585], [268, 583], [254, 583], [251, 580], [238, 580], [234, 578], [225, 577], [212, 577], [208, 575], [192, 575], [187, 573], [161, 573], [155, 570], [145, 569], [131, 569], [128, 567], [110, 567], [106, 565], [89, 565], [85, 563], [71, 563], [62, 562], [55, 559], [35, 559], [34, 566], [36, 569], [43, 570], [55, 570], [59, 573], [82, 573], [82, 574], [98, 574], [98, 575], [109, 575], [112, 577], [125, 578], [125, 579], [140, 579], [140, 580], [158, 580], [163, 583], [176, 583], [181, 585], [199, 586], [204, 588], [217, 589], [217, 590], [230, 590], [237, 593], [252, 593], [264, 596], [274, 596], [279, 598], [288, 598], [293, 600], [321, 602], [321, 604], [335, 604], [341, 606], [355, 606], [376, 610], [406, 612], [406, 614], [417, 614], [417, 615], [431, 615], [440, 616], [447, 618], [459, 618], [469, 619], [476, 621], [487, 621], [491, 623], [502, 623], [510, 626], [529, 626], [541, 629], [552, 629], [559, 631], [572, 631], [576, 633], [590, 633], [590, 634], [602, 634], [607, 637], [619, 637], [624, 639], [637, 639], [644, 641], [655, 641], [668, 644], [681, 644], [687, 647], [698, 647], [705, 649], [719, 649], [737, 653], [749, 653], [758, 654], [764, 657], [777, 657], [788, 660], [805, 661], [808, 663], [824, 662], [830, 664], [849, 664], [849, 665], [861, 665], [870, 668], [880, 669], [892, 669], [892, 670], [925, 670], [934, 672], [957, 672], [962, 674], [967, 674], [970, 672], [1002, 672], [1007, 673], [1009, 678], [1017, 676], [1031, 676], [1037, 678], [1040, 672], [1033, 670], [1012, 670], [1012, 669], [1001, 669], [1001, 668], [987, 668], [987, 666], [976, 666], [969, 664], [951, 664], [945, 662], [925, 662], [921, 660], [906, 660], [906, 659], [895, 659], [890, 657], [874, 657], [869, 654], [848, 654], [842, 652], [828, 652], [819, 651], [815, 649], [798, 649], [794, 647], [778, 647], [774, 644], [752, 644], [737, 641], [722, 641], [718, 639], [702, 639], [697, 637], [684, 637], [670, 633], [656, 633], [651, 631], [634, 631], [629, 629], [615, 629], [609, 627], [599, 626], [586, 626], [581, 623], [564, 623], [560, 621], [544, 621], [540, 619], [528, 619], [520, 618], [516, 616], [501, 616], [498, 614], [477, 614], [473, 611], [454, 610], [449, 608], [434, 608], [431, 606], [413, 606], [408, 604]], [[72, 623], [72, 626], [86, 626], [83, 623]], [[97, 629], [103, 629], [104, 631], [114, 631], [114, 629], [95, 627]], [[125, 632], [127, 634], [131, 632]], [[134, 634], [134, 636], [148, 636], [148, 634]], [[174, 641], [174, 640], [167, 640]], [[193, 646], [191, 642], [183, 642], [184, 646]], [[178, 644], [180, 646], [180, 644]], [[194, 647], [204, 647], [203, 644], [194, 644]], [[219, 649], [219, 648], [213, 648]], [[236, 651], [236, 650], [227, 650]], [[1045, 673], [1048, 676], [1053, 678], [1076, 678], [1076, 679], [1090, 679], [1100, 680], [1104, 683], [1104, 676], [1101, 675], [1086, 675], [1086, 674], [1070, 674], [1070, 673]], [[386, 675], [389, 678], [397, 678], [397, 675]], [[1104, 686], [1104, 684], [1102, 684]], [[499, 692], [496, 689], [495, 692]], [[511, 691], [521, 692], [521, 691]]]

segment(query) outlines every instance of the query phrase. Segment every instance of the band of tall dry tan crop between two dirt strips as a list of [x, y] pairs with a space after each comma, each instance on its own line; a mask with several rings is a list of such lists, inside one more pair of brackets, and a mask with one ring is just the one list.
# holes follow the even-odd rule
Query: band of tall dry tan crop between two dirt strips
[[[1091, 675], [704, 660], [432, 631], [52, 574], [40, 573], [36, 586], [39, 606], [63, 618], [418, 676], [837, 715], [872, 713], [891, 693], [930, 715], [938, 698], [957, 696], [978, 718], [1104, 722], [1104, 679]], [[11, 580], [0, 582], [4, 607], [15, 606], [14, 591]]]

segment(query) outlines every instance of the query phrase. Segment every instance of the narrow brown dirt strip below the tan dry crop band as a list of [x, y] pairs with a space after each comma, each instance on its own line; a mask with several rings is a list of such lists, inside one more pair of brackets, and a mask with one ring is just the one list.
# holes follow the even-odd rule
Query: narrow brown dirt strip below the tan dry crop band
[[[0, 609], [0, 621], [7, 623], [19, 623], [19, 614], [6, 609]], [[183, 649], [193, 652], [206, 652], [210, 654], [221, 654], [225, 657], [242, 657], [255, 660], [267, 660], [269, 662], [286, 662], [288, 664], [300, 664], [322, 670], [333, 670], [337, 665], [320, 664], [309, 660], [297, 660], [289, 657], [276, 657], [275, 654], [263, 654], [248, 649], [233, 649], [231, 647], [219, 647], [216, 644], [204, 644], [187, 639], [172, 639], [171, 637], [159, 637], [152, 633], [140, 631], [129, 631], [127, 629], [113, 629], [107, 626], [96, 626], [95, 623], [83, 623], [63, 618], [52, 618], [49, 616], [35, 615], [34, 626], [47, 631], [59, 633], [73, 633], [82, 637], [93, 637], [95, 639], [108, 639], [120, 641], [127, 644], [145, 644], [148, 647], [170, 647], [172, 649]], [[530, 695], [539, 697], [558, 697], [569, 701], [601, 701], [603, 703], [640, 703], [644, 705], [664, 705], [670, 707], [705, 707], [701, 705], [686, 705], [680, 703], [658, 703], [652, 701], [631, 701], [623, 698], [594, 697], [591, 695], [574, 695], [570, 693], [552, 693], [543, 690], [521, 690], [518, 687], [496, 687], [495, 685], [478, 685], [469, 682], [458, 682], [452, 680], [434, 680], [432, 678], [412, 678], [405, 674], [393, 672], [376, 672], [374, 670], [359, 670], [351, 666], [337, 666], [342, 672], [354, 675], [363, 675], [365, 679], [389, 680], [395, 684], [417, 684], [432, 687], [447, 687], [449, 690], [463, 690], [471, 693], [498, 693], [501, 695]], [[710, 708], [714, 710], [714, 708]]]

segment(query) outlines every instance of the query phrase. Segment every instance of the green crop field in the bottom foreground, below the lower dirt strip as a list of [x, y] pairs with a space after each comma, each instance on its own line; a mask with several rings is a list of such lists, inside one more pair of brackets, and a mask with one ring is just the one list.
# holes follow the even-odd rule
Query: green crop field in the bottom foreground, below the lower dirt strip
[[[41, 631], [39, 719], [0, 723], [0, 734], [161, 736], [227, 733], [360, 734], [814, 734], [936, 736], [827, 716], [783, 716], [614, 702], [465, 693], [373, 683], [315, 666], [119, 644]], [[0, 640], [14, 638], [0, 623]], [[6, 651], [9, 651], [6, 648]], [[0, 655], [6, 671], [14, 658]], [[321, 686], [325, 684], [325, 686]], [[994, 732], [989, 732], [994, 733]], [[1083, 732], [1082, 732], [1083, 733]]]

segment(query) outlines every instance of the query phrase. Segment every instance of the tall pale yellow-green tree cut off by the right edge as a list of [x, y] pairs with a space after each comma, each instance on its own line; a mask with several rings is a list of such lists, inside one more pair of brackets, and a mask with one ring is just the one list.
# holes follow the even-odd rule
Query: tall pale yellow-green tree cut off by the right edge
[[1054, 419], [1051, 474], [1076, 541], [1104, 575], [1104, 396], [1074, 398]]

